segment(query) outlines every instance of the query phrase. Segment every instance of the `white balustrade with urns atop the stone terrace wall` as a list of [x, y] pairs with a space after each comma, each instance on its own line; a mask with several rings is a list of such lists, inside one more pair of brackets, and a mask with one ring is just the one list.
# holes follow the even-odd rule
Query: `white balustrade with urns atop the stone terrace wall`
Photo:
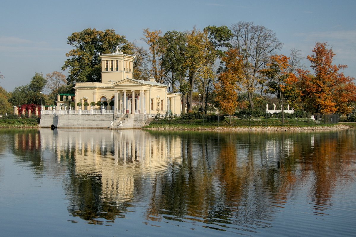
[[[141, 109], [135, 109], [133, 114], [140, 114]], [[143, 110], [143, 114], [146, 114], [146, 109]], [[41, 110], [41, 114], [115, 114], [114, 109], [90, 109], [90, 110], [74, 110], [74, 109], [49, 109], [49, 110]], [[131, 114], [131, 112], [127, 109], [125, 113], [125, 109], [117, 109], [116, 114]]]

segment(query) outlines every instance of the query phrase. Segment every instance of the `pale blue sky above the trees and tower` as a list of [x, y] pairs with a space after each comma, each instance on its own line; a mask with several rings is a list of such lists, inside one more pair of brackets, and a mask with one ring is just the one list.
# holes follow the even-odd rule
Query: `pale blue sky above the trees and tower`
[[[312, 54], [315, 42], [328, 42], [335, 64], [347, 64], [356, 77], [355, 0], [33, 0], [2, 1], [0, 8], [0, 86], [12, 91], [26, 85], [35, 72], [61, 71], [71, 49], [67, 37], [86, 28], [115, 29], [146, 47], [142, 29], [185, 31], [193, 26], [230, 26], [253, 21], [272, 29], [291, 48]], [[147, 47], [146, 47], [147, 48]], [[305, 64], [309, 67], [308, 61]], [[61, 71], [62, 72], [62, 71]], [[63, 72], [67, 75], [67, 72]]]

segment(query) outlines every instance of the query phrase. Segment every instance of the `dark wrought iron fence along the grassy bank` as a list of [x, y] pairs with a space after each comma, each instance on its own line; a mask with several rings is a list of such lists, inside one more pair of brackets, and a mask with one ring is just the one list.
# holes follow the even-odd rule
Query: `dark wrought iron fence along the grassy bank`
[[153, 124], [191, 124], [206, 126], [302, 126], [302, 125], [320, 125], [335, 124], [339, 122], [339, 115], [325, 114], [315, 115], [314, 119], [310, 114], [302, 115], [285, 114], [284, 120], [281, 115], [203, 115], [201, 113], [187, 114], [146, 114], [145, 122]]

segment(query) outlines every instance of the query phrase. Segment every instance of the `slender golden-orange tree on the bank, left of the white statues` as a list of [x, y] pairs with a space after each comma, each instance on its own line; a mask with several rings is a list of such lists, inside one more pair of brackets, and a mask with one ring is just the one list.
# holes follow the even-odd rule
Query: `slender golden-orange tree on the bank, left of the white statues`
[[229, 49], [221, 61], [225, 64], [223, 72], [219, 75], [218, 82], [215, 84], [216, 97], [215, 101], [219, 104], [222, 113], [230, 114], [235, 113], [238, 105], [237, 90], [241, 88], [237, 82], [241, 81], [243, 75], [243, 60], [239, 51], [235, 48]]

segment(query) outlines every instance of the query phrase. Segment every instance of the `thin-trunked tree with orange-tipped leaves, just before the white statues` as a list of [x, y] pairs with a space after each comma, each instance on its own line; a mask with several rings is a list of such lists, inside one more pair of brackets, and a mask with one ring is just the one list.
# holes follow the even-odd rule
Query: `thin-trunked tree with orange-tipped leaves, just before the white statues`
[[293, 85], [298, 81], [297, 76], [290, 72], [288, 63], [290, 58], [281, 54], [271, 56], [271, 63], [267, 64], [267, 69], [259, 72], [267, 77], [268, 92], [277, 93], [277, 97], [282, 103], [282, 123], [284, 123], [284, 97], [286, 92], [292, 91]]

